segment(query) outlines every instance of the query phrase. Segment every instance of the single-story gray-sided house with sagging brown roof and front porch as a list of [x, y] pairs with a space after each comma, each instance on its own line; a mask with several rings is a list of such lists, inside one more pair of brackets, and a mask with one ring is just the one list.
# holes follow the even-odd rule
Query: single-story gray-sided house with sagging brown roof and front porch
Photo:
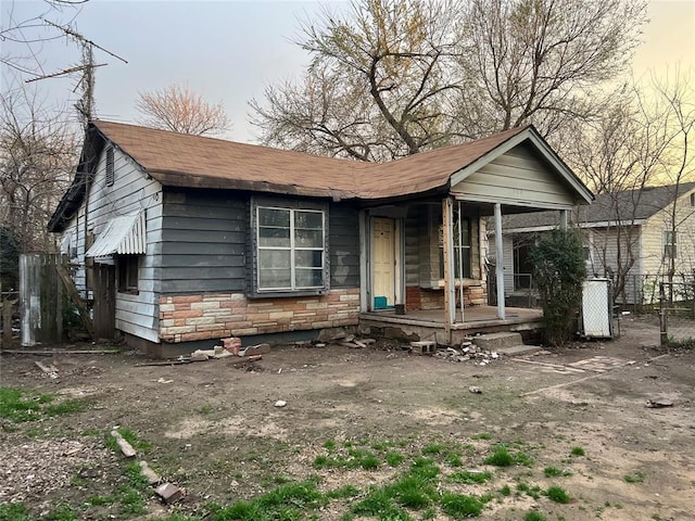
[[[485, 217], [592, 198], [532, 126], [367, 164], [97, 120], [49, 229], [100, 336], [153, 354], [384, 323], [451, 342], [486, 304]], [[501, 301], [489, 319], [519, 319]]]

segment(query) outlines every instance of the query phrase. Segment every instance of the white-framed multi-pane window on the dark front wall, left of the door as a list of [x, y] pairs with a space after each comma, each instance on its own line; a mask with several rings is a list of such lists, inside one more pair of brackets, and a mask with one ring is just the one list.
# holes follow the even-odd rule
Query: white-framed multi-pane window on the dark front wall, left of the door
[[256, 290], [326, 288], [326, 213], [256, 206]]

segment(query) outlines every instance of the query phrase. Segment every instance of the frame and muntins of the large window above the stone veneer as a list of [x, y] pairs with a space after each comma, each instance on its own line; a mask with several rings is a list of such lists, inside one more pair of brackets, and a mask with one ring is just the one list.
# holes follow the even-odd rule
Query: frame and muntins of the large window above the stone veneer
[[[282, 211], [289, 213], [289, 228], [288, 234], [290, 244], [287, 246], [281, 245], [261, 245], [261, 212], [263, 209]], [[320, 237], [323, 240], [323, 246], [298, 246], [296, 240], [296, 215], [299, 213], [316, 213], [321, 216], [321, 229]], [[329, 213], [328, 204], [308, 202], [308, 201], [290, 201], [290, 200], [275, 200], [265, 198], [254, 198], [251, 204], [251, 256], [252, 256], [252, 272], [249, 288], [249, 296], [251, 297], [268, 297], [268, 296], [298, 296], [298, 295], [321, 295], [326, 294], [330, 288], [330, 253], [328, 245], [328, 229], [329, 229]], [[289, 251], [290, 252], [290, 285], [289, 287], [268, 287], [264, 285], [261, 275], [261, 252], [270, 251]], [[321, 283], [317, 285], [299, 285], [298, 284], [298, 252], [320, 252], [321, 266], [312, 267], [305, 266], [307, 269], [315, 269], [320, 271]]]

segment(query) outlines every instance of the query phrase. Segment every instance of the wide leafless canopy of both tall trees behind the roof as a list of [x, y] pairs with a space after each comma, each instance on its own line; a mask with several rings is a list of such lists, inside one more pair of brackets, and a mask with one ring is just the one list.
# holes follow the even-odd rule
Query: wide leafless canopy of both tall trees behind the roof
[[253, 100], [266, 144], [384, 161], [598, 112], [644, 23], [632, 0], [352, 0], [301, 27], [304, 78]]

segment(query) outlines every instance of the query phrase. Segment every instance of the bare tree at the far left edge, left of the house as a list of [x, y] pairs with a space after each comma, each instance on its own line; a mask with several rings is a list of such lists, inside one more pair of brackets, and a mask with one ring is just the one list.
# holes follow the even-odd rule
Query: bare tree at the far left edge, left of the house
[[51, 251], [47, 224], [78, 160], [67, 111], [45, 110], [28, 89], [0, 105], [0, 226], [21, 252]]

